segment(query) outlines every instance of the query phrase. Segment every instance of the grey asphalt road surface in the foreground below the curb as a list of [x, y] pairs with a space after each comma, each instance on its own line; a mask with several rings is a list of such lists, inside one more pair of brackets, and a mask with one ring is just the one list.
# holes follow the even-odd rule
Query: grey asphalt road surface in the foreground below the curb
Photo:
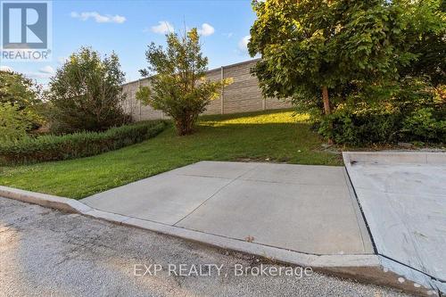
[[0, 198], [0, 296], [408, 296], [290, 269]]

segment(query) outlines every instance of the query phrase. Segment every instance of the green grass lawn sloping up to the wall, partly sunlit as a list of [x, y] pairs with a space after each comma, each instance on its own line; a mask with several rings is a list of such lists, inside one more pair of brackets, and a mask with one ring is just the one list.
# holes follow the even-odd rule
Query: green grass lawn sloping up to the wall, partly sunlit
[[306, 120], [293, 111], [206, 116], [192, 136], [176, 136], [169, 126], [114, 152], [0, 168], [0, 185], [80, 199], [203, 160], [342, 165], [340, 156], [321, 152], [322, 140]]

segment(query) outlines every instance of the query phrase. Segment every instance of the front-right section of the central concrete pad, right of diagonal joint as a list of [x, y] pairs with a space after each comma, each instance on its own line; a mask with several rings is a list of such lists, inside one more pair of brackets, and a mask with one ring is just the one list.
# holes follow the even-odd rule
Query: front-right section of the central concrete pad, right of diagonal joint
[[362, 240], [346, 186], [239, 179], [176, 226], [296, 252], [372, 252]]

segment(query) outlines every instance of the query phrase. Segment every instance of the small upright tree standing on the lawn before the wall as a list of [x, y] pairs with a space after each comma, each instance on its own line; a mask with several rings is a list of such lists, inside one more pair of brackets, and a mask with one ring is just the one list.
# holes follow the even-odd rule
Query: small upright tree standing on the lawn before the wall
[[198, 115], [231, 80], [206, 80], [208, 59], [202, 56], [197, 29], [187, 32], [185, 37], [178, 37], [176, 33], [166, 37], [166, 50], [154, 43], [148, 46], [145, 56], [149, 66], [140, 72], [145, 77], [154, 75], [150, 86], [141, 87], [136, 98], [168, 114], [175, 122], [178, 135], [189, 135], [194, 131]]

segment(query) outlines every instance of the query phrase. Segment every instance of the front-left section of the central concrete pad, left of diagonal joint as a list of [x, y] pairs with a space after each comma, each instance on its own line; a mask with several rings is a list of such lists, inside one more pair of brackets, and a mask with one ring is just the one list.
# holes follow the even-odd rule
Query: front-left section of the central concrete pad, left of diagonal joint
[[231, 179], [165, 173], [82, 200], [97, 210], [163, 224], [175, 224]]

